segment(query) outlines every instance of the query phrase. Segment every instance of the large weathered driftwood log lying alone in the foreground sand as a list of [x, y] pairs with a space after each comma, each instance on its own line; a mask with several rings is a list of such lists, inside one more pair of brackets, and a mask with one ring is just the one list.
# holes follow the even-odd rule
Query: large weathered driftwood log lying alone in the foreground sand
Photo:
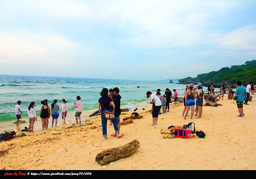
[[124, 157], [128, 157], [132, 153], [134, 153], [138, 148], [140, 148], [140, 142], [138, 139], [134, 139], [132, 142], [104, 150], [97, 154], [95, 161], [99, 162], [100, 165], [105, 165], [111, 161], [119, 160]]

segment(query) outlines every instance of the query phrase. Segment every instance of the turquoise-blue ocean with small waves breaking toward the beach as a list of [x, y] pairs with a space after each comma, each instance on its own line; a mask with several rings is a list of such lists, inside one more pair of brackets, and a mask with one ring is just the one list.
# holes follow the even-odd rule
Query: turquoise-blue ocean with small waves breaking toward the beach
[[[139, 86], [139, 87], [137, 87]], [[158, 88], [164, 94], [166, 88], [171, 91], [176, 89], [178, 97], [184, 96], [186, 85], [163, 81], [124, 80], [124, 79], [99, 79], [99, 78], [69, 78], [69, 77], [42, 77], [0, 75], [0, 127], [13, 124], [16, 121], [14, 106], [17, 101], [22, 101], [21, 120], [28, 120], [28, 105], [35, 102], [37, 117], [39, 117], [41, 101], [48, 100], [52, 104], [57, 99], [57, 104], [62, 104], [62, 99], [67, 101], [68, 112], [74, 107], [76, 96], [83, 101], [83, 111], [96, 111], [102, 88], [118, 87], [120, 90], [121, 108], [129, 108], [150, 101], [146, 92], [154, 93]], [[174, 92], [172, 91], [172, 94]]]

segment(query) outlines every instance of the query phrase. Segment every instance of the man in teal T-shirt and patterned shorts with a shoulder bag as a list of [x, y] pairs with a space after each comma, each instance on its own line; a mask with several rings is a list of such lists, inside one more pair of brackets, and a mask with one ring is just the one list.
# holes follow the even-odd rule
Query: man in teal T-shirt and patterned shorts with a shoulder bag
[[235, 91], [235, 94], [237, 96], [236, 98], [236, 105], [238, 108], [239, 115], [237, 117], [243, 117], [244, 116], [244, 109], [243, 109], [243, 102], [244, 98], [247, 95], [246, 89], [242, 86], [241, 81], [236, 82], [237, 88]]

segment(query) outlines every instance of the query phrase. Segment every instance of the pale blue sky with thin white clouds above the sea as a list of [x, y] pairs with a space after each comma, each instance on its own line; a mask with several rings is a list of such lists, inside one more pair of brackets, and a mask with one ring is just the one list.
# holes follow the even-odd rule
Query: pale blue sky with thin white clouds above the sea
[[163, 80], [256, 59], [256, 0], [0, 0], [0, 74]]

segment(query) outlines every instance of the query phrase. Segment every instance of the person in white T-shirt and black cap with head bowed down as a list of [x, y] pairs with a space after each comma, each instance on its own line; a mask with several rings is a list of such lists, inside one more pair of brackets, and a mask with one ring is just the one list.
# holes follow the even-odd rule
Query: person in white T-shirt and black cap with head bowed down
[[152, 126], [157, 124], [157, 120], [158, 120], [158, 112], [161, 109], [162, 103], [160, 98], [156, 95], [156, 94], [152, 94], [150, 91], [148, 91], [147, 93], [147, 98], [151, 98], [152, 101], [150, 101], [150, 104], [154, 104], [153, 107], [153, 112], [152, 112], [152, 121], [153, 123], [150, 124]]

